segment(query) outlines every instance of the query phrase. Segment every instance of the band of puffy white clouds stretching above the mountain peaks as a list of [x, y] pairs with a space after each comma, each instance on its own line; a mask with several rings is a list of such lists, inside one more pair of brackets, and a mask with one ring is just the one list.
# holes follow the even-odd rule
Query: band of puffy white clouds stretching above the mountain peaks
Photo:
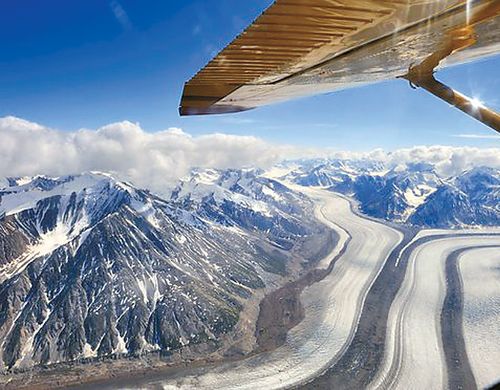
[[148, 133], [127, 121], [67, 132], [15, 117], [0, 118], [0, 178], [98, 170], [163, 192], [195, 167], [266, 168], [283, 159], [328, 156], [371, 158], [392, 167], [430, 162], [445, 176], [479, 165], [500, 169], [500, 148], [417, 146], [353, 153], [276, 145], [252, 136], [195, 137], [178, 128]]

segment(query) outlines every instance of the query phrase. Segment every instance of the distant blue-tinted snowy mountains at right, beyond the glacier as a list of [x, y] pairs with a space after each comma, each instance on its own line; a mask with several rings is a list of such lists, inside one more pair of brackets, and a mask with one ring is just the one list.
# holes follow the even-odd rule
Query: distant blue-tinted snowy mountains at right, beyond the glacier
[[441, 177], [431, 164], [388, 168], [370, 160], [332, 160], [299, 164], [287, 179], [350, 196], [361, 212], [388, 221], [432, 228], [500, 226], [498, 169]]

